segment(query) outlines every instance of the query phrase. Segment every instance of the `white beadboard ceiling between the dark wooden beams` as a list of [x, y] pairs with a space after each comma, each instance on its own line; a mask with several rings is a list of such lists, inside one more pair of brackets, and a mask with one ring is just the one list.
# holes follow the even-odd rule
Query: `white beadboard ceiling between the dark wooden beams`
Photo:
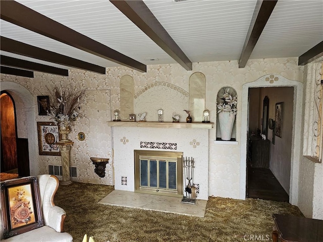
[[[176, 63], [110, 1], [17, 2], [145, 65]], [[238, 60], [256, 5], [255, 0], [144, 3], [192, 63]], [[0, 24], [1, 36], [101, 67], [120, 66], [4, 20]], [[250, 59], [298, 57], [322, 40], [323, 1], [279, 0]], [[72, 69], [5, 51], [1, 54]]]

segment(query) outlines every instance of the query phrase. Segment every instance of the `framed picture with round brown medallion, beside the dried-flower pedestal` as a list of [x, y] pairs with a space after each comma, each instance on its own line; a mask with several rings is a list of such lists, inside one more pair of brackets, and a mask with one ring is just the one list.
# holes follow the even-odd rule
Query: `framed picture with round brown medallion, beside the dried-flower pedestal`
[[59, 127], [52, 122], [37, 122], [39, 155], [61, 155], [56, 145], [59, 141]]

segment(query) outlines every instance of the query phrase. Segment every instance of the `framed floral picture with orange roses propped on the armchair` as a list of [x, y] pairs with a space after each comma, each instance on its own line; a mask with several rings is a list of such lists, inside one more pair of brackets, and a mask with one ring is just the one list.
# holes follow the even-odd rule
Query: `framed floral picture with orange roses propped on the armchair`
[[44, 225], [36, 176], [3, 181], [1, 204], [5, 238]]

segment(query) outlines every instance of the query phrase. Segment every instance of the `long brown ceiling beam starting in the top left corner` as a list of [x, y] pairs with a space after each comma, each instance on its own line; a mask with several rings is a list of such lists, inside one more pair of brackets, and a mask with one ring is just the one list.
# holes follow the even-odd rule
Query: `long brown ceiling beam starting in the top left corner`
[[0, 1], [1, 19], [84, 50], [109, 61], [146, 72], [146, 66], [15, 1]]

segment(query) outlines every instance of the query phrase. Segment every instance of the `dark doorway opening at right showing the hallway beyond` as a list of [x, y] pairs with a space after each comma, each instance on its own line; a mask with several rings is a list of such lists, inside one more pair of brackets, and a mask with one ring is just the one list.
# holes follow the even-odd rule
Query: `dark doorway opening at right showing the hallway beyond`
[[248, 98], [246, 197], [289, 202], [294, 88], [249, 88]]

